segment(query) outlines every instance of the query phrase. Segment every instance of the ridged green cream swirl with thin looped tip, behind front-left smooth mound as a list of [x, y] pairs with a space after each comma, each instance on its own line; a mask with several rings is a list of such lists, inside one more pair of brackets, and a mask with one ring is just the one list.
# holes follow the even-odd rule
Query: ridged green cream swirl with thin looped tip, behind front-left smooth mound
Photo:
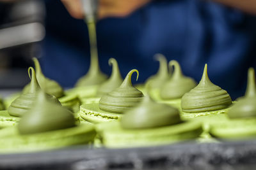
[[[31, 78], [28, 92], [26, 92], [25, 94], [21, 94], [20, 97], [17, 97], [17, 99], [15, 99], [15, 101], [13, 101], [8, 108], [8, 113], [14, 117], [21, 117], [26, 111], [31, 108], [31, 106], [33, 106], [38, 91], [40, 90], [40, 86], [38, 84], [38, 81], [36, 80], [36, 74], [33, 67], [29, 67], [28, 74], [29, 78]], [[47, 96], [55, 103], [60, 104], [56, 97], [49, 95]]]

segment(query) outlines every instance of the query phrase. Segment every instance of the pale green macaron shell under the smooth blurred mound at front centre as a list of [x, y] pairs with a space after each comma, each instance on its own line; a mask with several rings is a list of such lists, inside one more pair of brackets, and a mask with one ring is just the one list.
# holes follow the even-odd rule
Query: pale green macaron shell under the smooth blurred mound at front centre
[[152, 129], [122, 129], [119, 122], [97, 125], [103, 145], [108, 148], [131, 148], [136, 146], [167, 145], [198, 138], [202, 133], [200, 122], [181, 124]]

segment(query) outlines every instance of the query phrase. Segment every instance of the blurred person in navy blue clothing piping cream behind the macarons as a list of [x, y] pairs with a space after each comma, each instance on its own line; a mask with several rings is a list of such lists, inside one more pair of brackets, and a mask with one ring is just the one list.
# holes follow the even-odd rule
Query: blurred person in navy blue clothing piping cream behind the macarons
[[[79, 0], [45, 4], [40, 62], [45, 75], [70, 87], [90, 64], [83, 10]], [[109, 74], [108, 59], [115, 57], [123, 75], [136, 68], [144, 81], [157, 71], [153, 55], [163, 53], [199, 81], [207, 63], [211, 80], [235, 99], [244, 93], [248, 67], [256, 65], [255, 14], [255, 0], [100, 0], [100, 67]]]

